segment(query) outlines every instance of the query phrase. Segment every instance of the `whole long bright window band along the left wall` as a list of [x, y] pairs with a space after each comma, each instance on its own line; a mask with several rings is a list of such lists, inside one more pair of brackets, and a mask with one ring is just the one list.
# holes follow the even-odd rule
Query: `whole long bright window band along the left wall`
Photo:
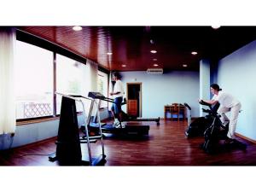
[[[54, 79], [56, 79], [55, 83]], [[93, 61], [87, 61], [84, 65], [67, 56], [17, 40], [16, 119], [60, 114], [61, 96], [57, 95], [54, 101], [54, 91], [80, 96], [88, 96], [89, 91], [99, 91], [104, 96], [108, 96], [108, 73], [98, 71], [97, 64]], [[90, 100], [84, 100], [86, 114], [89, 113], [90, 103]], [[101, 102], [100, 108], [107, 107], [108, 102]], [[77, 111], [83, 111], [81, 104], [77, 104]]]

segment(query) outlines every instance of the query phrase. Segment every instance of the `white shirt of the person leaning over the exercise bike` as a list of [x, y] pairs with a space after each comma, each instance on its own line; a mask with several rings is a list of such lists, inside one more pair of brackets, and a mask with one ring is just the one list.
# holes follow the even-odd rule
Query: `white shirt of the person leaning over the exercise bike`
[[225, 93], [222, 90], [218, 91], [218, 96], [212, 96], [212, 100], [218, 101], [224, 108], [232, 108], [239, 103], [234, 96], [231, 96], [229, 93]]

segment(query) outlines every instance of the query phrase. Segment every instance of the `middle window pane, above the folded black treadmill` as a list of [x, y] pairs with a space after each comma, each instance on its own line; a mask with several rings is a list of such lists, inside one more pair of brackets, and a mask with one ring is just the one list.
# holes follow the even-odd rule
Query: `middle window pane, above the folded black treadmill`
[[[63, 55], [56, 55], [56, 90], [65, 95], [84, 96], [84, 79], [87, 67]], [[61, 112], [61, 96], [56, 96], [56, 113]], [[77, 111], [83, 111], [82, 105], [77, 104]]]

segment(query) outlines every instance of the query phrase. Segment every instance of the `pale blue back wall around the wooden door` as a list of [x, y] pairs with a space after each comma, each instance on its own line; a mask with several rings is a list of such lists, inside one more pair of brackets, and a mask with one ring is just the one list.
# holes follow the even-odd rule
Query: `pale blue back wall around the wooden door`
[[[187, 102], [192, 108], [192, 117], [199, 116], [199, 72], [123, 72], [121, 75], [125, 91], [126, 83], [142, 83], [143, 118], [163, 118], [164, 106], [173, 102]], [[126, 112], [125, 106], [123, 110]]]

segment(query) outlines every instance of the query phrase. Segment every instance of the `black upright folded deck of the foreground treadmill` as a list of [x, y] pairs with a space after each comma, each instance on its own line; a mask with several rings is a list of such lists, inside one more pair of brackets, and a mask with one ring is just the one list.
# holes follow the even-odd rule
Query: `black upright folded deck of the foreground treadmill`
[[57, 137], [56, 159], [63, 166], [81, 164], [82, 154], [79, 142], [79, 125], [76, 103], [62, 96], [61, 117]]

